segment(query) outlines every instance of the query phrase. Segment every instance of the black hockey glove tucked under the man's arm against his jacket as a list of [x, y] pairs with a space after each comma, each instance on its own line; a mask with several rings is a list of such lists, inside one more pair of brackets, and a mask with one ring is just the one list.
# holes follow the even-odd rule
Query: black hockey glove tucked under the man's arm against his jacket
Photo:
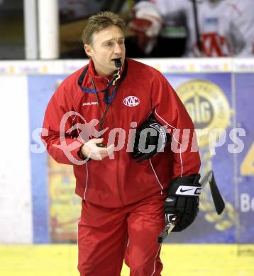
[[170, 134], [153, 116], [150, 116], [136, 132], [132, 156], [138, 163], [163, 151], [170, 143]]

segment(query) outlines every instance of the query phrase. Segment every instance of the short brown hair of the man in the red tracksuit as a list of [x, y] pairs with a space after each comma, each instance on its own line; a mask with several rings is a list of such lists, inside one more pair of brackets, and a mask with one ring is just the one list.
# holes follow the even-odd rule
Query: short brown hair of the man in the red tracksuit
[[111, 13], [111, 11], [101, 11], [89, 17], [82, 32], [82, 41], [84, 45], [92, 44], [92, 35], [111, 25], [118, 26], [123, 30], [125, 23], [121, 17], [115, 13]]

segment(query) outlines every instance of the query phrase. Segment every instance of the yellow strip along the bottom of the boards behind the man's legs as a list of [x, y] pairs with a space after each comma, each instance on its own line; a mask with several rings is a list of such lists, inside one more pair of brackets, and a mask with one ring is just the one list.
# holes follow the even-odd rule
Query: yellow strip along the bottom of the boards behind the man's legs
[[[167, 244], [162, 276], [253, 276], [253, 245]], [[0, 246], [4, 276], [78, 276], [76, 245]], [[128, 276], [123, 266], [121, 276]], [[95, 276], [95, 275], [94, 275]]]

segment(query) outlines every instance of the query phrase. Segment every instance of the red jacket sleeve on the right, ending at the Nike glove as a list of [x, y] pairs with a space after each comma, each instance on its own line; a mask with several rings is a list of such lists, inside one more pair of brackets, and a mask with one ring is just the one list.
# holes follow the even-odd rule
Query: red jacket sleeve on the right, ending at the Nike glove
[[199, 173], [200, 157], [191, 117], [167, 79], [158, 73], [152, 85], [155, 118], [167, 127], [174, 156], [173, 178]]

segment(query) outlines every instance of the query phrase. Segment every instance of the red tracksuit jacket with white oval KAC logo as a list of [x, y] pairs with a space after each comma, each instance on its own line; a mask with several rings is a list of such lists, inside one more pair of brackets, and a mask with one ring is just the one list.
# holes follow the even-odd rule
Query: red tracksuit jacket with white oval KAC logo
[[[48, 103], [43, 123], [42, 138], [50, 155], [59, 163], [73, 165], [77, 195], [103, 207], [122, 207], [150, 195], [166, 193], [172, 178], [198, 173], [200, 168], [198, 151], [191, 151], [192, 120], [172, 86], [153, 67], [132, 59], [126, 59], [126, 62], [126, 77], [116, 91], [103, 125], [103, 130], [108, 128], [102, 135], [104, 144], [112, 130], [122, 129], [115, 146], [118, 142], [124, 145], [119, 151], [114, 151], [114, 159], [91, 160], [82, 165], [70, 159], [72, 156], [82, 161], [79, 148], [84, 142], [79, 134], [82, 137], [83, 132], [83, 139], [85, 136], [93, 138], [89, 125], [92, 125], [93, 119], [101, 120], [106, 108], [104, 93], [98, 93], [96, 98], [94, 93], [85, 93], [79, 87], [78, 79], [84, 68], [68, 76], [57, 88]], [[92, 78], [97, 91], [104, 90], [109, 82], [105, 77], [96, 75], [90, 60], [82, 86], [93, 88]], [[68, 113], [71, 111], [73, 114]], [[138, 128], [152, 112], [155, 119], [167, 127], [178, 151], [173, 152], [172, 147], [167, 146], [164, 152], [152, 159], [137, 163], [126, 151], [130, 129], [135, 130], [131, 122], [137, 122]], [[60, 122], [66, 113], [71, 115], [66, 122], [64, 120], [66, 144], [61, 144]], [[84, 122], [90, 124], [85, 127]], [[99, 129], [99, 124], [95, 129]], [[190, 130], [190, 139], [183, 137], [183, 129]], [[180, 135], [176, 130], [181, 130]], [[194, 137], [194, 144], [196, 142]], [[66, 156], [64, 149], [67, 148], [70, 154]]]

